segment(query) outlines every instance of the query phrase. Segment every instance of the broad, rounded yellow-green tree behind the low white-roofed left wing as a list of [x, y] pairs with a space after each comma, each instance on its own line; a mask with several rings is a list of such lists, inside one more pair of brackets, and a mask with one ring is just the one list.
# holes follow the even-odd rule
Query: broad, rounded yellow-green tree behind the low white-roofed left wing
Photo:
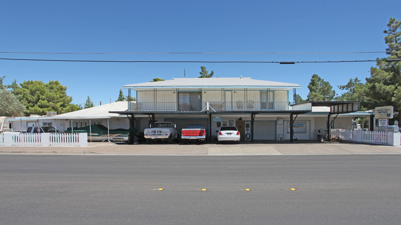
[[27, 108], [26, 114], [45, 115], [46, 112], [62, 112], [72, 101], [67, 96], [67, 87], [62, 86], [59, 81], [49, 81], [45, 84], [41, 81], [24, 81], [20, 85], [12, 83], [12, 93], [17, 96]]

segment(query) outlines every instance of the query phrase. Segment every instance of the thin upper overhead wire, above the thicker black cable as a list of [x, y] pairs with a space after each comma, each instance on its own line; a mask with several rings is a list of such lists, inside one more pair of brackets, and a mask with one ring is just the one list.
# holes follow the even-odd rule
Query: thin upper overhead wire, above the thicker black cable
[[120, 52], [120, 53], [67, 53], [67, 52], [0, 52], [16, 54], [354, 54], [354, 53], [397, 53], [396, 52]]

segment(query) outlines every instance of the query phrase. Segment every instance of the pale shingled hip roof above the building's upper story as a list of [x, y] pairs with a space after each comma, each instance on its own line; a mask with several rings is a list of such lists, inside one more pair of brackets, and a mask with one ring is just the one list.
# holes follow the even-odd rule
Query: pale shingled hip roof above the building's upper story
[[157, 82], [128, 84], [123, 88], [302, 88], [299, 84], [253, 80], [252, 78], [173, 78]]

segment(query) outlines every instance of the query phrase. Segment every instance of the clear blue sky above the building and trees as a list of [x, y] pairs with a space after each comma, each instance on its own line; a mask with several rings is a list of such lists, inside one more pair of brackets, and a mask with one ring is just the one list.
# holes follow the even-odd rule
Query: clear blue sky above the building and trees
[[[401, 20], [401, 1], [0, 1], [0, 52], [383, 52], [390, 17]], [[341, 61], [375, 60], [369, 54], [17, 54], [0, 58], [108, 61]], [[302, 85], [312, 74], [337, 86], [365, 81], [375, 62], [122, 63], [0, 60], [4, 84], [14, 79], [59, 80], [75, 104], [117, 100], [126, 84], [153, 78], [252, 77]], [[128, 90], [123, 89], [125, 95]]]

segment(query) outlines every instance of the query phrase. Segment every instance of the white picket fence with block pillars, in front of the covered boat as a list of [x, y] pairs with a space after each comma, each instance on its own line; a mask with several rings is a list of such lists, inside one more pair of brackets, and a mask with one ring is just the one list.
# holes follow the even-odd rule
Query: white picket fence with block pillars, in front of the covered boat
[[87, 147], [87, 133], [1, 133], [0, 146]]

